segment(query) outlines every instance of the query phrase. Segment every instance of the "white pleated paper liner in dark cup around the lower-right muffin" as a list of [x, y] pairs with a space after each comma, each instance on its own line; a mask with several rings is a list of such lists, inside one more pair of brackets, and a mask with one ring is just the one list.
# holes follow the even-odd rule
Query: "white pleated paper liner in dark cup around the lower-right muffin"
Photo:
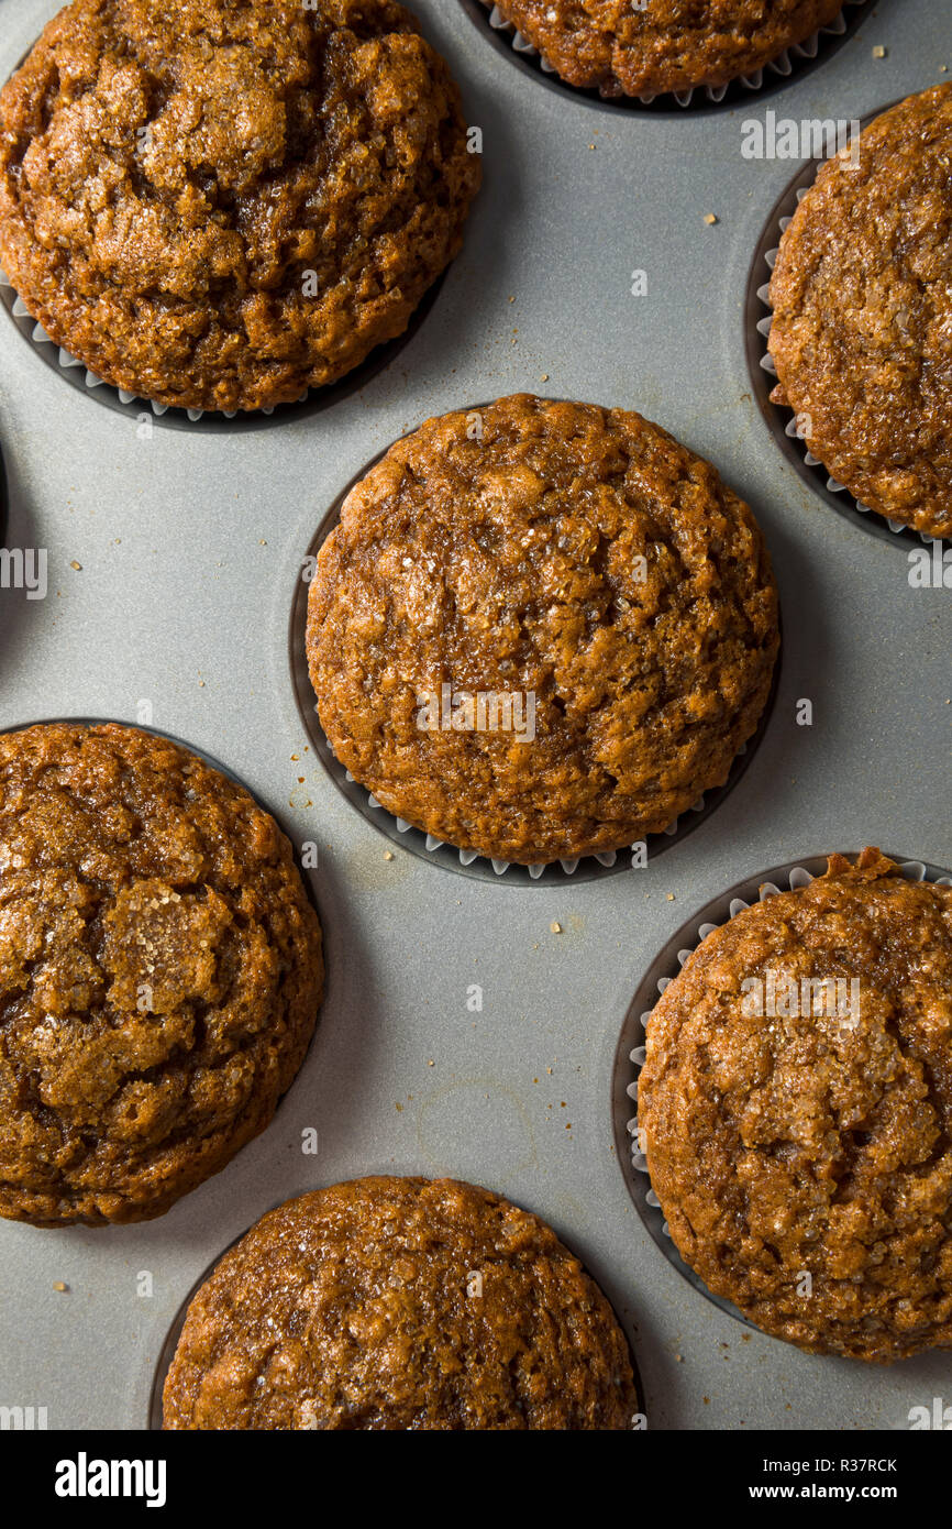
[[[857, 853], [853, 852], [850, 859], [856, 861], [856, 858]], [[899, 865], [908, 881], [931, 881], [940, 887], [952, 887], [952, 873], [940, 865], [932, 865], [928, 861], [903, 859], [903, 856], [892, 853], [888, 853], [888, 858]], [[727, 1312], [729, 1316], [735, 1316], [737, 1321], [743, 1323], [744, 1327], [750, 1327], [753, 1332], [759, 1332], [756, 1324], [744, 1316], [732, 1301], [727, 1301], [724, 1297], [715, 1295], [714, 1290], [709, 1290], [700, 1275], [695, 1274], [688, 1263], [685, 1263], [680, 1252], [674, 1246], [671, 1229], [665, 1219], [665, 1211], [657, 1194], [654, 1193], [654, 1188], [651, 1187], [648, 1161], [639, 1145], [639, 1122], [636, 1113], [639, 1078], [642, 1067], [645, 1066], [645, 1040], [654, 1006], [669, 983], [672, 983], [678, 976], [682, 966], [694, 954], [694, 951], [708, 939], [709, 934], [714, 934], [715, 930], [729, 924], [730, 919], [735, 919], [738, 913], [744, 913], [747, 908], [753, 907], [753, 904], [766, 902], [767, 898], [775, 898], [782, 891], [796, 891], [801, 887], [808, 887], [811, 881], [827, 872], [827, 864], [828, 855], [811, 855], [798, 861], [787, 861], [784, 865], [773, 865], [759, 876], [750, 876], [730, 887], [688, 919], [688, 922], [671, 936], [663, 950], [656, 956], [639, 983], [634, 998], [628, 1008], [628, 1014], [625, 1015], [625, 1023], [622, 1026], [614, 1057], [611, 1083], [614, 1145], [625, 1185], [634, 1200], [634, 1206], [648, 1235], [654, 1242], [656, 1248], [662, 1251], [668, 1263], [672, 1264], [672, 1268], [675, 1268], [695, 1290], [712, 1301], [721, 1312]]]

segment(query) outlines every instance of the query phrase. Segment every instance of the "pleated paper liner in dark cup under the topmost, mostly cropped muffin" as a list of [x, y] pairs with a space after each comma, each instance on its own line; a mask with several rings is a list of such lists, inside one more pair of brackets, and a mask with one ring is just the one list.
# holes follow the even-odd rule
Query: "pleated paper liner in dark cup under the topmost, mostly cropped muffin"
[[689, 90], [665, 90], [639, 96], [605, 96], [596, 89], [573, 86], [567, 80], [562, 80], [544, 54], [503, 15], [495, 0], [463, 0], [463, 9], [480, 26], [480, 31], [489, 31], [489, 35], [497, 40], [510, 58], [524, 64], [546, 84], [608, 110], [649, 109], [654, 112], [674, 112], [675, 115], [686, 110], [708, 112], [718, 106], [733, 106], [747, 95], [776, 89], [785, 84], [787, 80], [807, 73], [845, 43], [869, 12], [871, 5], [873, 0], [844, 0], [839, 15], [827, 21], [825, 26], [818, 28], [802, 43], [792, 43], [767, 64], [763, 64], [749, 75], [738, 75], [737, 80], [730, 80], [726, 86], [697, 86]]

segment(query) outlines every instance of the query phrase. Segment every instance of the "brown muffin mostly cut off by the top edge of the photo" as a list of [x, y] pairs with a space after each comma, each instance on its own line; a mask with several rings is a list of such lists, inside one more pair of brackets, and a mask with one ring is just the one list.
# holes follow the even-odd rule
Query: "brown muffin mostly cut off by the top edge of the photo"
[[844, 0], [497, 0], [556, 73], [604, 96], [726, 86], [839, 15]]

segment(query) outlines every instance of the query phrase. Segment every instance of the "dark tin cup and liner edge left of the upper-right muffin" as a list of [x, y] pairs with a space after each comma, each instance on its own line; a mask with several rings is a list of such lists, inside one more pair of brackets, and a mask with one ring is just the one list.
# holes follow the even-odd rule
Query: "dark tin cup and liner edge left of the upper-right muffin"
[[[895, 106], [895, 102], [889, 102], [889, 106]], [[877, 112], [871, 112], [868, 116], [862, 118], [860, 130], [865, 131], [865, 128], [869, 127], [877, 116], [882, 116], [883, 112], [889, 110], [889, 106], [883, 106]], [[784, 453], [787, 462], [795, 468], [798, 477], [801, 477], [804, 483], [808, 483], [813, 492], [830, 505], [831, 509], [851, 521], [854, 526], [862, 526], [863, 531], [879, 537], [880, 541], [888, 541], [891, 546], [906, 549], [909, 546], [932, 546], [935, 541], [940, 541], [938, 537], [931, 537], [926, 532], [915, 531], [902, 520], [888, 520], [885, 515], [877, 514], [877, 511], [862, 505], [848, 488], [837, 483], [824, 463], [813, 456], [807, 442], [798, 433], [795, 411], [785, 404], [773, 404], [770, 399], [770, 393], [778, 381], [776, 365], [773, 364], [773, 358], [767, 349], [770, 326], [773, 323], [773, 310], [770, 307], [770, 278], [779, 254], [781, 239], [825, 162], [827, 161], [811, 159], [804, 164], [801, 170], [798, 170], [793, 180], [790, 180], [787, 188], [775, 202], [750, 263], [744, 307], [744, 341], [747, 350], [747, 370], [753, 384], [753, 396], [759, 404], [770, 434]]]

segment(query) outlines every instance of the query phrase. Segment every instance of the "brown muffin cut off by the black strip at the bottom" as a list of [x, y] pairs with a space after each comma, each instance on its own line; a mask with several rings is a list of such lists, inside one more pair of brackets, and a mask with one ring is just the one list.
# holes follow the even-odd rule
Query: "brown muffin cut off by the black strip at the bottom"
[[625, 1336], [555, 1232], [452, 1179], [270, 1211], [188, 1307], [165, 1428], [631, 1428]]

